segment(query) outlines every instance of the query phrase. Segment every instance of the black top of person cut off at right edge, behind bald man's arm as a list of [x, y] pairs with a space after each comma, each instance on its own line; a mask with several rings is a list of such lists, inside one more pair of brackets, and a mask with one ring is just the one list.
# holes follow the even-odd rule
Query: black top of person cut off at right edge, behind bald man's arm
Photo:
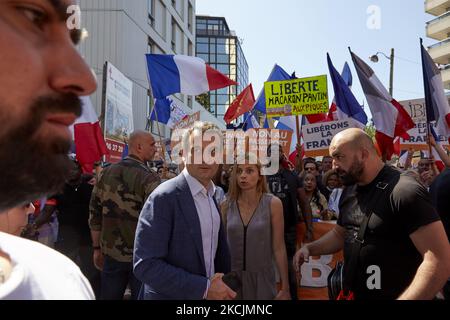
[[450, 168], [445, 169], [437, 176], [430, 187], [430, 194], [450, 241]]

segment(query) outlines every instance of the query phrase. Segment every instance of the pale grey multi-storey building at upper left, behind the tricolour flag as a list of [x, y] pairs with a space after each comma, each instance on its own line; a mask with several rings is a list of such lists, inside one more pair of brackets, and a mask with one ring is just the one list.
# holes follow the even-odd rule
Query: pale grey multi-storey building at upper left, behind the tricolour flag
[[[133, 82], [133, 122], [145, 129], [152, 99], [149, 96], [146, 53], [195, 55], [195, 0], [79, 0], [82, 27], [88, 37], [79, 46], [97, 76], [91, 96], [102, 118], [103, 65], [111, 62]], [[187, 114], [201, 111], [200, 119], [224, 127], [194, 97], [176, 94]], [[152, 122], [155, 136], [170, 137], [164, 125]]]

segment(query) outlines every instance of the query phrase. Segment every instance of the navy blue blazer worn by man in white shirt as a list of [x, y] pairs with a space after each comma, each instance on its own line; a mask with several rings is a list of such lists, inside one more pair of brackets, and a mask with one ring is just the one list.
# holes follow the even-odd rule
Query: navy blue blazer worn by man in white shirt
[[[214, 261], [216, 273], [231, 269], [221, 222]], [[136, 229], [134, 274], [145, 300], [203, 299], [207, 288], [200, 220], [183, 174], [156, 188], [147, 199]]]

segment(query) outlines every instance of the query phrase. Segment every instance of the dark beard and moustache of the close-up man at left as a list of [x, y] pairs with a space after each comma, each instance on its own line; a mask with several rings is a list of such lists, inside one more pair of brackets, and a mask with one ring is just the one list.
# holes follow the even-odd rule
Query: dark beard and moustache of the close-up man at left
[[[0, 112], [6, 113], [0, 106]], [[45, 96], [29, 107], [26, 119], [0, 137], [0, 212], [58, 193], [69, 175], [70, 141], [43, 136], [39, 129], [51, 113], [81, 115], [81, 102], [74, 94]], [[0, 116], [0, 125], [7, 123]]]

